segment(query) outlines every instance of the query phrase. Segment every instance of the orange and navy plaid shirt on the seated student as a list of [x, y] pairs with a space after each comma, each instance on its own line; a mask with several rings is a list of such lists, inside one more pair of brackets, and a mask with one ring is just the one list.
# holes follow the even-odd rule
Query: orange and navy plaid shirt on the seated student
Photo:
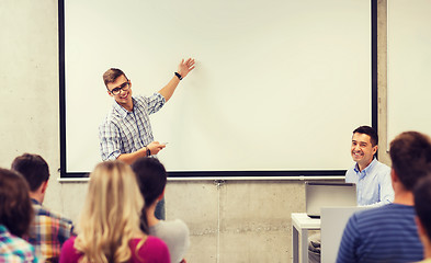
[[35, 199], [32, 202], [35, 216], [25, 239], [46, 262], [58, 262], [63, 243], [75, 236], [72, 221], [48, 210]]

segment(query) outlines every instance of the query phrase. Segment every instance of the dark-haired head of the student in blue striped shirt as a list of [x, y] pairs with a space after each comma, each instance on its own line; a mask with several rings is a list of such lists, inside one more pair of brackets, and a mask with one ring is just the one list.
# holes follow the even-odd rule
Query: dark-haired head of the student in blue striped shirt
[[418, 132], [405, 132], [390, 142], [392, 167], [407, 191], [431, 172], [431, 140]]

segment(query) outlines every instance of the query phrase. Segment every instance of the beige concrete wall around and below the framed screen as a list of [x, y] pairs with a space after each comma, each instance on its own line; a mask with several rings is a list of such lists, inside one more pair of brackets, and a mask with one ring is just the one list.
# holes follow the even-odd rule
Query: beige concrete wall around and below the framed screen
[[[386, 153], [386, 1], [379, 4], [378, 128]], [[45, 205], [76, 220], [87, 183], [59, 183], [56, 0], [0, 2], [0, 167], [23, 152], [50, 165]], [[348, 152], [347, 152], [348, 155]], [[191, 230], [189, 262], [287, 262], [291, 213], [304, 211], [300, 181], [170, 181], [167, 217]]]

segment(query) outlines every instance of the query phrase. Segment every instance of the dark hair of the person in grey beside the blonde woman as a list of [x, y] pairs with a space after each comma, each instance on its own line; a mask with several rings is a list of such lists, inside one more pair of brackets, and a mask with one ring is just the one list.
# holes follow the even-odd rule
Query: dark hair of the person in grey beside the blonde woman
[[145, 204], [150, 206], [162, 196], [167, 183], [163, 164], [156, 158], [139, 158], [132, 164]]

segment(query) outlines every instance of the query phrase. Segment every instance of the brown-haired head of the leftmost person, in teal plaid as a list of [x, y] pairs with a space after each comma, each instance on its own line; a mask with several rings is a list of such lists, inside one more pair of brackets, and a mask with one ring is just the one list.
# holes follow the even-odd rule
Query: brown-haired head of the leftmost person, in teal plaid
[[15, 171], [0, 168], [0, 225], [22, 237], [32, 219], [33, 207], [25, 179]]

